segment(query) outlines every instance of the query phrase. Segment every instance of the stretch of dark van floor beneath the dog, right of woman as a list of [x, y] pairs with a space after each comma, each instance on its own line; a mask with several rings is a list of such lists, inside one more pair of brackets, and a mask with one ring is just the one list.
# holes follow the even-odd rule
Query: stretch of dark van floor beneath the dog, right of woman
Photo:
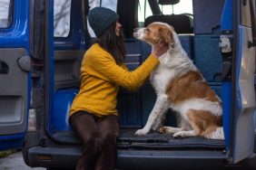
[[143, 148], [225, 148], [224, 140], [212, 140], [203, 137], [174, 138], [172, 134], [161, 134], [158, 132], [135, 136], [136, 130], [137, 128], [122, 128], [118, 139], [118, 146]]

